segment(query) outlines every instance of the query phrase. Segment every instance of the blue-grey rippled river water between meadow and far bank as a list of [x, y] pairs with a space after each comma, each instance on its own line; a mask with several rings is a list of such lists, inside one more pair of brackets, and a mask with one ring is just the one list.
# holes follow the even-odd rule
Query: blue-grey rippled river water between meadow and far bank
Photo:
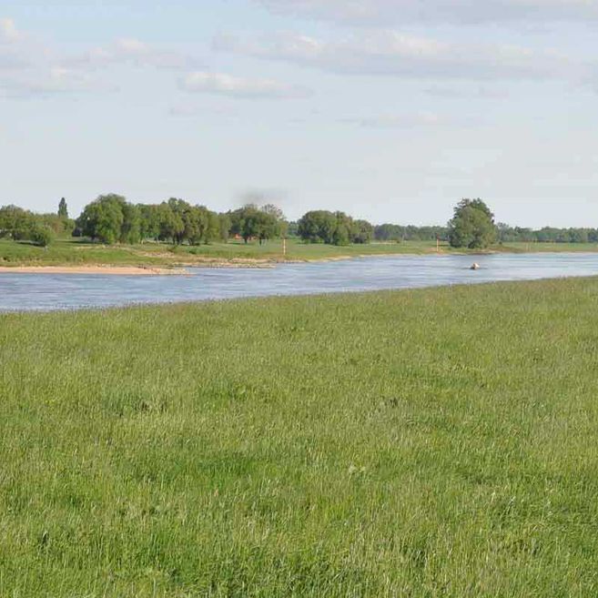
[[[471, 271], [473, 261], [481, 269]], [[273, 269], [189, 269], [186, 276], [0, 273], [0, 311], [106, 308], [136, 303], [415, 289], [496, 280], [598, 275], [598, 254], [386, 256]]]

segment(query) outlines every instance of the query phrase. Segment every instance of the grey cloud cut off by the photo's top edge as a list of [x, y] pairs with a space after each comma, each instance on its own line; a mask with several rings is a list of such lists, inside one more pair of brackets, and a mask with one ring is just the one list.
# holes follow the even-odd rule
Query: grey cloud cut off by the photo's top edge
[[254, 0], [275, 13], [357, 25], [598, 21], [597, 0]]

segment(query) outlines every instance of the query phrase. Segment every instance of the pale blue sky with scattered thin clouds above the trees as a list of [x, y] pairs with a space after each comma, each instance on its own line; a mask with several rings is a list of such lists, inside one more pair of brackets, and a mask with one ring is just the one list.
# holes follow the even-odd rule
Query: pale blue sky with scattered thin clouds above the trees
[[598, 226], [598, 0], [3, 0], [0, 204]]

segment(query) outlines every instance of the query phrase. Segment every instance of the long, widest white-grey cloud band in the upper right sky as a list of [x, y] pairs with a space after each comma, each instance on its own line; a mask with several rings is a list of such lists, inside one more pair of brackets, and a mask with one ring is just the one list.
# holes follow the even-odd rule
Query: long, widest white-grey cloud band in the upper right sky
[[340, 41], [296, 34], [257, 40], [220, 35], [216, 49], [287, 60], [325, 71], [433, 79], [551, 79], [583, 75], [584, 67], [556, 52], [520, 46], [448, 43], [430, 37], [372, 31]]

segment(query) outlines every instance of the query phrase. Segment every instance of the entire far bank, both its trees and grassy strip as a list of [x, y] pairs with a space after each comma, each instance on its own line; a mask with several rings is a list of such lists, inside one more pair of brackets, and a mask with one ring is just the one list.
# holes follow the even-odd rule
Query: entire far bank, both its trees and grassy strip
[[[284, 241], [283, 241], [284, 239]], [[284, 248], [283, 248], [284, 245]], [[593, 228], [512, 228], [494, 224], [480, 199], [464, 199], [446, 227], [372, 226], [344, 212], [315, 210], [297, 222], [266, 204], [217, 213], [182, 199], [132, 204], [100, 196], [71, 219], [0, 208], [0, 263], [8, 265], [181, 265], [214, 260], [307, 260], [431, 251], [595, 250]]]

